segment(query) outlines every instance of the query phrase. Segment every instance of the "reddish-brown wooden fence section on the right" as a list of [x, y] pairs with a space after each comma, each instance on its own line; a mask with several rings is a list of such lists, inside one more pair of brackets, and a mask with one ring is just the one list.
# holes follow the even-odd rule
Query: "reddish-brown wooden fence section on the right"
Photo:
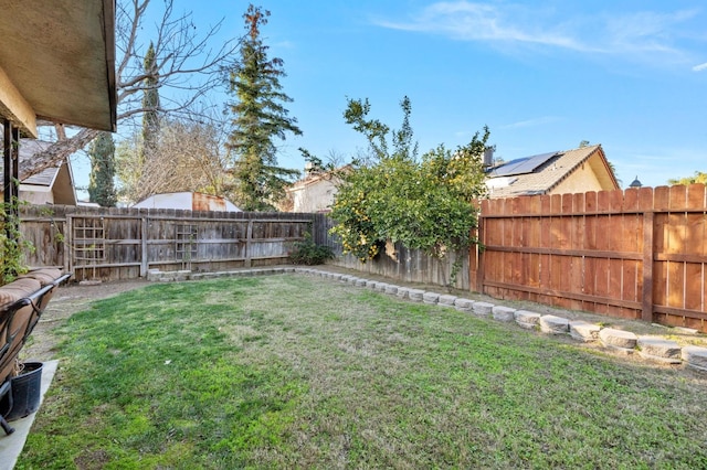
[[471, 288], [707, 332], [704, 184], [486, 200]]

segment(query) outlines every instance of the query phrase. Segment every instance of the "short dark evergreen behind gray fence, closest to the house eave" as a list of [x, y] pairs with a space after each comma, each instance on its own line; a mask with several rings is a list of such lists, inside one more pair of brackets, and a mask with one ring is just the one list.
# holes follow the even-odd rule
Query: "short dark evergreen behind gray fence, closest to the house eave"
[[103, 207], [114, 207], [117, 202], [115, 177], [115, 145], [110, 132], [101, 132], [88, 148], [91, 174], [88, 200]]

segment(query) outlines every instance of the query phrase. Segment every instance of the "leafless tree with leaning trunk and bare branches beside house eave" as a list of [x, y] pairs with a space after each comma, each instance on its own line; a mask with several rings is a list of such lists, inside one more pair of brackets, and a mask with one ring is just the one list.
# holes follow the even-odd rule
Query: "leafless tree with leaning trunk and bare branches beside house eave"
[[[155, 2], [157, 6], [161, 2]], [[149, 36], [141, 38], [144, 22], [150, 0], [118, 0], [116, 6], [116, 87], [118, 126], [129, 125], [131, 118], [143, 114], [141, 98], [147, 89], [148, 77], [143, 60]], [[157, 75], [163, 116], [189, 116], [194, 104], [222, 84], [222, 71], [233, 61], [240, 39], [232, 39], [211, 49], [212, 42], [223, 24], [221, 20], [204, 32], [199, 32], [191, 13], [175, 14], [173, 0], [165, 1], [161, 20], [156, 24], [152, 39]], [[172, 90], [173, 93], [165, 93]], [[49, 167], [55, 167], [70, 154], [84, 148], [98, 135], [97, 130], [82, 129], [72, 137], [57, 140], [45, 151], [36, 153], [31, 162], [20, 169], [20, 179], [25, 179]]]

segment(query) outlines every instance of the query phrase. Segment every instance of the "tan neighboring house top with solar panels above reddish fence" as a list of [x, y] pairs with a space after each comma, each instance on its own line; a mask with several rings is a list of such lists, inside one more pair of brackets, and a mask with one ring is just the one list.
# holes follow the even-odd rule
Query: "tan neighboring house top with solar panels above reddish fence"
[[490, 197], [619, 189], [601, 146], [525, 157], [487, 170]]

